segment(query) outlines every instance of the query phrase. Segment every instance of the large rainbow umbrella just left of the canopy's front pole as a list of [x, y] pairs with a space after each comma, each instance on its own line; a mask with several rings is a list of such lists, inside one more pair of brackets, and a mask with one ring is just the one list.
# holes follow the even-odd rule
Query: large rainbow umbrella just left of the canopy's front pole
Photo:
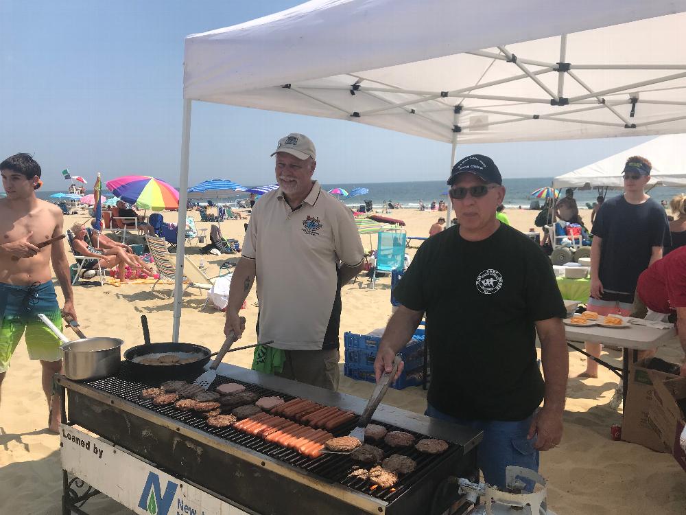
[[165, 181], [147, 175], [127, 175], [107, 181], [107, 188], [122, 201], [143, 209], [178, 209], [178, 192]]

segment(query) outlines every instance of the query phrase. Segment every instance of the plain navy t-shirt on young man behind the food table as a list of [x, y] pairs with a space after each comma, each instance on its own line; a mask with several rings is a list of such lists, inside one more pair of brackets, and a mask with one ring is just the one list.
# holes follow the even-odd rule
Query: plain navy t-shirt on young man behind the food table
[[642, 204], [630, 204], [624, 195], [606, 200], [591, 232], [602, 238], [598, 278], [608, 293], [634, 295], [652, 247], [672, 244], [665, 209], [652, 198]]

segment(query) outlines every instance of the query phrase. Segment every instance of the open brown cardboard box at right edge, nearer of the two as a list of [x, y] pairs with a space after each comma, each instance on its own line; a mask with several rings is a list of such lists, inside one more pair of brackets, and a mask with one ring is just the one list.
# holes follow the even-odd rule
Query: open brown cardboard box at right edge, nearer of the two
[[656, 380], [653, 393], [650, 420], [659, 429], [662, 442], [669, 449], [668, 452], [672, 453], [674, 459], [686, 471], [686, 450], [679, 442], [686, 417], [678, 404], [686, 403], [686, 378]]

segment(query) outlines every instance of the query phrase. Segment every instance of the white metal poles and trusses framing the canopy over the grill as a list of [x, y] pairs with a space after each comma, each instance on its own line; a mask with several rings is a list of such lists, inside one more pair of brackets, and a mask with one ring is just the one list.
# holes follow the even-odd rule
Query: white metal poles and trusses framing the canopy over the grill
[[[634, 130], [637, 126], [652, 126], [656, 124], [664, 124], [668, 122], [674, 122], [681, 119], [686, 119], [686, 116], [677, 116], [670, 118], [663, 118], [657, 120], [650, 120], [648, 122], [642, 122], [636, 124], [632, 122], [632, 118], [635, 114], [635, 110], [639, 104], [659, 104], [659, 105], [686, 105], [686, 102], [675, 102], [675, 101], [660, 101], [660, 100], [641, 100], [641, 93], [648, 93], [650, 91], [656, 91], [651, 89], [641, 90], [641, 88], [653, 86], [656, 84], [667, 84], [671, 81], [678, 80], [681, 78], [686, 78], [686, 65], [606, 65], [606, 64], [575, 64], [572, 62], [565, 62], [567, 54], [567, 35], [563, 34], [560, 36], [560, 61], [559, 62], [544, 62], [540, 60], [528, 59], [525, 57], [517, 56], [512, 54], [506, 46], [497, 47], [499, 53], [489, 52], [486, 50], [480, 50], [475, 52], [466, 52], [466, 54], [471, 56], [482, 57], [491, 60], [492, 63], [495, 60], [504, 60], [511, 62], [521, 73], [517, 75], [503, 78], [499, 80], [493, 80], [490, 82], [481, 82], [481, 78], [477, 80], [476, 84], [469, 87], [464, 87], [461, 89], [456, 89], [453, 91], [423, 91], [423, 90], [410, 90], [402, 89], [399, 87], [393, 87], [390, 84], [382, 84], [381, 82], [369, 78], [359, 76], [359, 73], [348, 74], [351, 76], [351, 85], [344, 86], [322, 86], [322, 87], [311, 87], [311, 86], [298, 86], [295, 84], [283, 84], [281, 88], [289, 89], [298, 95], [303, 95], [310, 100], [319, 102], [324, 106], [335, 109], [343, 115], [347, 115], [352, 119], [364, 119], [364, 117], [369, 117], [372, 115], [383, 115], [383, 114], [398, 114], [405, 113], [407, 115], [416, 116], [425, 120], [433, 126], [437, 134], [442, 135], [445, 138], [447, 132], [451, 133], [451, 156], [450, 156], [450, 167], [452, 168], [455, 164], [456, 148], [458, 144], [458, 134], [462, 130], [477, 130], [480, 128], [487, 128], [488, 126], [494, 126], [499, 124], [514, 124], [517, 122], [523, 122], [530, 119], [545, 119], [552, 120], [555, 122], [562, 122], [567, 124], [591, 124], [600, 125], [608, 127], [618, 127], [625, 128], [627, 131]], [[539, 67], [539, 69], [530, 69], [530, 67]], [[605, 71], [621, 71], [621, 70], [682, 70], [678, 73], [672, 73], [670, 75], [665, 75], [657, 78], [652, 78], [650, 80], [643, 80], [639, 82], [631, 82], [628, 84], [622, 84], [617, 87], [612, 87], [603, 90], [595, 90], [591, 85], [586, 84], [580, 76], [578, 76], [575, 71], [579, 70], [605, 70]], [[545, 73], [558, 73], [557, 89], [553, 91], [547, 87], [541, 80], [539, 76]], [[485, 72], [484, 72], [485, 74]], [[576, 95], [571, 98], [565, 98], [565, 84], [566, 78], [576, 82], [580, 85], [582, 89], [585, 89], [587, 93], [582, 95]], [[482, 75], [483, 78], [483, 75]], [[482, 93], [474, 93], [480, 89], [484, 89], [490, 86], [495, 86], [499, 84], [509, 84], [516, 82], [518, 80], [530, 80], [534, 82], [539, 89], [545, 94], [541, 98], [528, 98], [528, 97], [517, 97], [510, 95], [488, 95]], [[368, 85], [365, 85], [367, 83]], [[665, 88], [670, 89], [670, 88]], [[686, 87], [678, 85], [675, 89], [686, 89]], [[361, 112], [350, 112], [346, 108], [337, 106], [335, 103], [325, 100], [321, 95], [317, 94], [317, 91], [349, 91], [351, 95], [362, 93], [364, 95], [369, 95], [375, 100], [381, 102], [386, 102], [386, 106], [381, 106], [377, 108], [368, 109], [367, 111]], [[399, 94], [405, 95], [402, 101], [393, 102], [388, 98], [384, 97], [384, 94]], [[416, 95], [417, 98], [407, 99], [406, 95]], [[628, 98], [617, 100], [606, 98], [608, 95], [628, 95]], [[450, 100], [448, 100], [450, 99]], [[504, 106], [515, 107], [517, 103], [523, 104], [545, 104], [558, 106], [559, 111], [554, 114], [541, 113], [541, 114], [529, 114], [529, 113], [517, 113], [514, 111], [498, 111], [493, 109], [492, 105], [488, 106], [462, 106], [462, 101], [464, 99], [475, 99], [475, 100], [489, 100], [489, 101], [502, 101], [508, 102], [508, 104], [503, 104]], [[617, 106], [626, 106], [627, 104], [632, 104], [632, 111], [627, 117], [619, 111], [617, 111]], [[584, 107], [581, 107], [584, 106]], [[589, 121], [578, 118], [571, 118], [569, 115], [575, 113], [589, 112], [595, 109], [608, 109], [617, 118], [617, 122], [601, 122], [601, 121]], [[440, 122], [434, 117], [434, 113], [445, 112], [447, 110], [453, 111], [453, 125], [449, 126], [445, 122]], [[483, 113], [483, 114], [494, 114], [511, 117], [510, 119], [498, 120], [494, 122], [482, 122], [482, 123], [469, 123], [464, 126], [460, 126], [460, 115], [462, 113], [472, 112], [472, 113]], [[182, 144], [181, 144], [181, 165], [180, 165], [180, 187], [179, 187], [179, 210], [178, 210], [178, 225], [185, 224], [186, 217], [186, 202], [187, 202], [187, 189], [188, 189], [188, 169], [189, 169], [189, 144], [190, 144], [190, 127], [191, 127], [191, 99], [183, 100], [183, 126], [182, 126]], [[447, 211], [447, 224], [451, 225], [451, 207], [452, 203], [448, 203]], [[177, 249], [181, 255], [181, 259], [178, 260], [178, 266], [176, 267], [176, 285], [174, 288], [174, 327], [172, 332], [172, 341], [178, 341], [179, 336], [179, 325], [181, 317], [182, 308], [182, 277], [183, 277], [183, 244], [184, 231], [179, 231], [178, 233], [178, 245]]]

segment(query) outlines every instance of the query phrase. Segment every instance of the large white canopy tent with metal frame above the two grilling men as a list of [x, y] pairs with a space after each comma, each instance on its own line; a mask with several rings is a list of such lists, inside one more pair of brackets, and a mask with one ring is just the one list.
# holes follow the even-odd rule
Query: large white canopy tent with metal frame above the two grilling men
[[188, 36], [179, 220], [192, 100], [450, 142], [451, 165], [458, 142], [686, 132], [685, 11], [686, 0], [313, 0]]

